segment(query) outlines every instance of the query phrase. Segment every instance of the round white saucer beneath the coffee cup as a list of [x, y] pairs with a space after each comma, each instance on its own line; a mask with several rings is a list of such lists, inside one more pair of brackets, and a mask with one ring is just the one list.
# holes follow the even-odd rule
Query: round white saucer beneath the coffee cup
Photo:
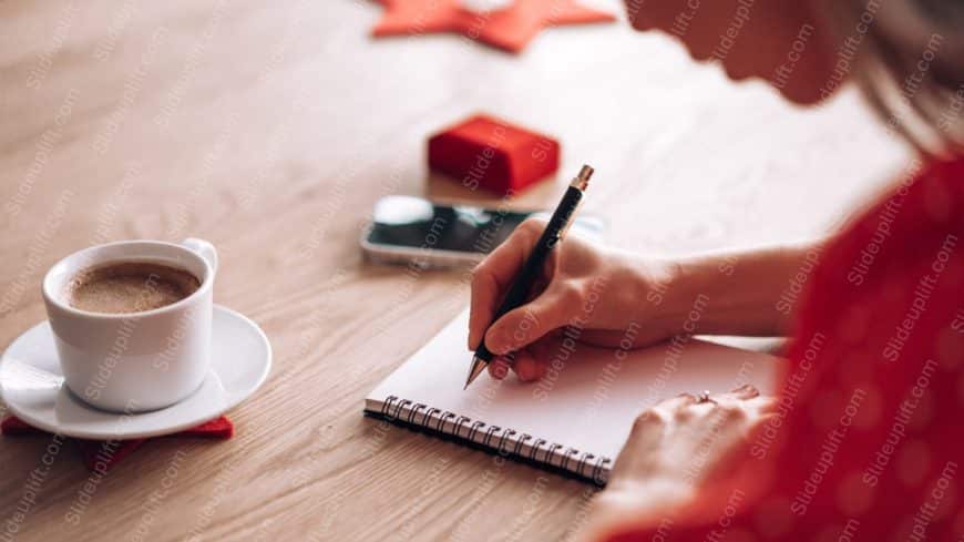
[[211, 372], [187, 399], [161, 410], [98, 410], [63, 385], [50, 324], [17, 338], [0, 359], [0, 397], [31, 426], [80, 439], [140, 439], [175, 433], [213, 420], [248, 398], [268, 376], [271, 345], [264, 331], [234, 310], [214, 307]]

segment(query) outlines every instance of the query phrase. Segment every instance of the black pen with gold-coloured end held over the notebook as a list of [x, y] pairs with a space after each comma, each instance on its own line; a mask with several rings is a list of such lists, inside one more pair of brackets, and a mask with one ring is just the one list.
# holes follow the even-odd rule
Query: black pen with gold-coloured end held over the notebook
[[[584, 165], [583, 168], [580, 170], [580, 174], [573, 177], [570, 187], [566, 188], [565, 195], [556, 207], [555, 213], [552, 214], [552, 218], [550, 218], [548, 224], [546, 224], [542, 236], [539, 238], [539, 243], [535, 244], [532, 253], [522, 266], [522, 272], [512, 284], [509, 294], [505, 295], [505, 299], [503, 299], [502, 305], [499, 306], [499, 310], [495, 311], [495, 316], [492, 318], [493, 323], [501, 318], [505, 313], [509, 313], [525, 303], [532, 286], [543, 272], [545, 259], [558, 242], [563, 239], [572, 225], [573, 217], [576, 214], [576, 208], [578, 208], [580, 202], [583, 200], [583, 192], [585, 192], [586, 187], [589, 185], [589, 177], [592, 176], [593, 168], [588, 165]], [[490, 323], [490, 325], [492, 325], [492, 323]], [[485, 348], [485, 334], [482, 334], [482, 341], [475, 348], [475, 355], [472, 357], [472, 367], [469, 368], [469, 378], [465, 380], [465, 388], [463, 389], [469, 388], [472, 380], [475, 380], [475, 378], [482, 374], [494, 357], [495, 355]]]

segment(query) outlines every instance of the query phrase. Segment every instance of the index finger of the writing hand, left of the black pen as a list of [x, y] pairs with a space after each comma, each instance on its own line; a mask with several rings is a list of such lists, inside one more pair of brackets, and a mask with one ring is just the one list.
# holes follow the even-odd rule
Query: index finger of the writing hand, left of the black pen
[[492, 324], [503, 294], [519, 275], [544, 228], [543, 221], [526, 219], [472, 270], [472, 300], [469, 309], [470, 349], [479, 346], [485, 328]]

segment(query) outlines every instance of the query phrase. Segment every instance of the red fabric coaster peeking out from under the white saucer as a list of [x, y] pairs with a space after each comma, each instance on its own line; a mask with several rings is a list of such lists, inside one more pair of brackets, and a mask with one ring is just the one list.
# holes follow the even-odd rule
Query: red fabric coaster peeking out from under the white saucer
[[[17, 417], [9, 416], [0, 422], [0, 433], [7, 437], [24, 437], [31, 434], [50, 434], [37, 429]], [[226, 417], [211, 420], [195, 428], [187, 429], [165, 437], [197, 437], [206, 439], [227, 440], [234, 436], [234, 423]], [[134, 452], [148, 439], [131, 440], [84, 440], [74, 439], [80, 449], [81, 457], [88, 469], [96, 472], [106, 472], [113, 466]]]

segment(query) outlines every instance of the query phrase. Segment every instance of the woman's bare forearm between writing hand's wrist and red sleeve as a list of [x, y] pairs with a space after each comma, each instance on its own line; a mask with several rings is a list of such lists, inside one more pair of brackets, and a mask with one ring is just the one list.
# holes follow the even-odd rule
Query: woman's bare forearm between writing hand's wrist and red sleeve
[[679, 259], [648, 296], [671, 333], [779, 336], [788, 330], [822, 241]]

